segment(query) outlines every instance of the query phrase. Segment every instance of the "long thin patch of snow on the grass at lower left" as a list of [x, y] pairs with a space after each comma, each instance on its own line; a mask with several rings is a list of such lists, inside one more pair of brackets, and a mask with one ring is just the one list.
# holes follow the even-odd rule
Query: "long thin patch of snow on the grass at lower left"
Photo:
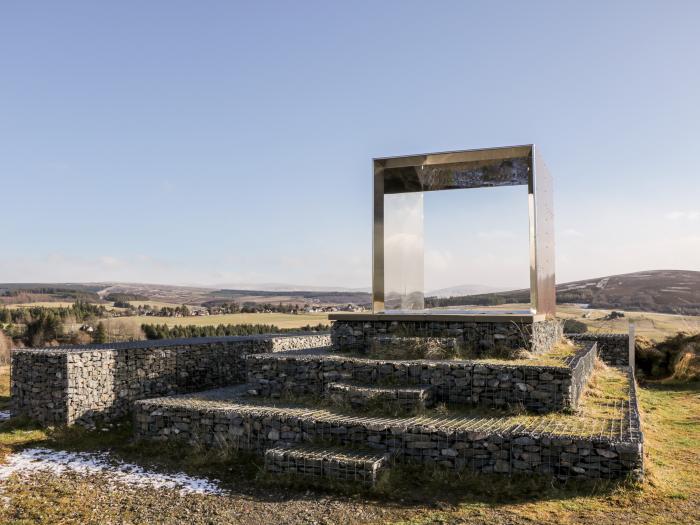
[[28, 448], [6, 458], [0, 465], [0, 481], [14, 473], [49, 472], [60, 476], [66, 472], [105, 474], [115, 483], [137, 487], [179, 489], [182, 494], [225, 494], [218, 480], [195, 478], [185, 473], [163, 474], [133, 463], [115, 460], [108, 453], [68, 452], [47, 448]]

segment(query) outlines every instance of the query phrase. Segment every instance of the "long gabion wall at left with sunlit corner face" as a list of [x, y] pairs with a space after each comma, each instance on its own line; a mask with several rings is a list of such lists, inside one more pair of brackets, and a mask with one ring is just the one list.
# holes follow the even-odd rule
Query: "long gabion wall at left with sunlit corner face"
[[245, 356], [325, 347], [328, 335], [139, 341], [12, 352], [11, 413], [45, 425], [123, 416], [136, 399], [245, 381]]

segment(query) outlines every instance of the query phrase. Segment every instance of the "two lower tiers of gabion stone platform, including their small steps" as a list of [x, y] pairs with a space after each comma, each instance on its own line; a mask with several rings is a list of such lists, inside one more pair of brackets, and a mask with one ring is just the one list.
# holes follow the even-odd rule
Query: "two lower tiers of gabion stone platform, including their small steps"
[[[137, 401], [135, 432], [250, 450], [271, 474], [367, 485], [393, 462], [562, 479], [638, 475], [642, 438], [626, 370], [599, 373], [610, 396], [562, 412], [578, 407], [594, 357], [595, 346], [546, 366], [250, 355], [245, 385]], [[493, 408], [519, 399], [534, 403]]]

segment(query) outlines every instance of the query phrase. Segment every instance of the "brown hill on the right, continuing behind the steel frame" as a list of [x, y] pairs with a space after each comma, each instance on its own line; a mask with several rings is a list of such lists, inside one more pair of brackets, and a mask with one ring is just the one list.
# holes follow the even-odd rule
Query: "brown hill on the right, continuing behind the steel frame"
[[[450, 298], [430, 297], [426, 303], [431, 307], [485, 306], [529, 300], [529, 290], [513, 290]], [[700, 272], [654, 270], [558, 284], [557, 302], [586, 304], [590, 308], [700, 315]]]

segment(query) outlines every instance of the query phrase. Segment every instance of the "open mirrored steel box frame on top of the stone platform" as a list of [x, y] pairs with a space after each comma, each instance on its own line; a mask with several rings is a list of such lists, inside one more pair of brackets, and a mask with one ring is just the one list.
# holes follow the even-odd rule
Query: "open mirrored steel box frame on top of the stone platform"
[[553, 315], [552, 178], [534, 145], [374, 160], [373, 311], [423, 309], [423, 192], [520, 185], [528, 187], [531, 312]]

